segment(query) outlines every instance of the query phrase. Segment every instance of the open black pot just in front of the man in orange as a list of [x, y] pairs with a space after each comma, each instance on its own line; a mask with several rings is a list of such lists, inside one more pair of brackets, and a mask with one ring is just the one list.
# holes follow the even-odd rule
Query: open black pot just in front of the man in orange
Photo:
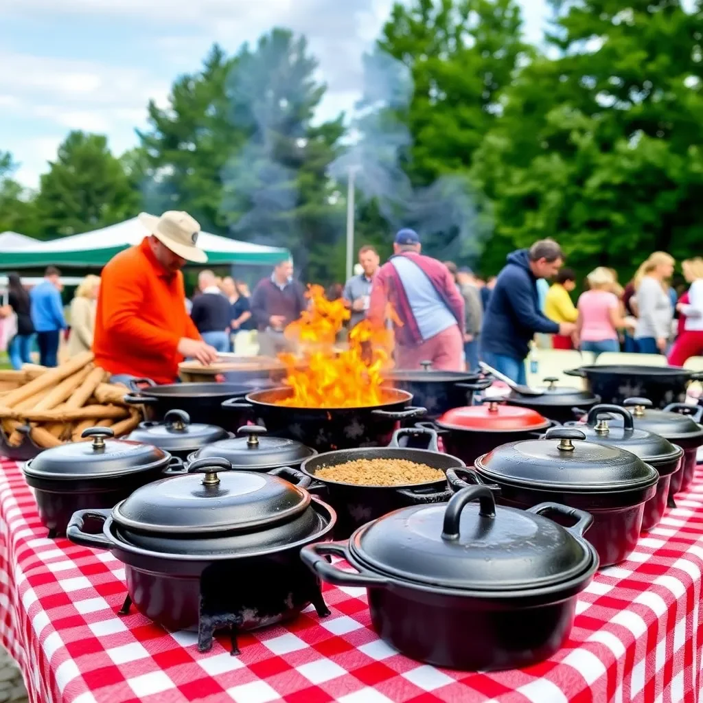
[[162, 422], [169, 410], [182, 410], [195, 423], [224, 427], [234, 432], [251, 419], [250, 413], [241, 409], [239, 412], [222, 412], [223, 401], [250, 392], [251, 387], [247, 385], [212, 382], [157, 386], [148, 378], [130, 381], [129, 385], [132, 392], [124, 396], [124, 402], [143, 406], [147, 420]]

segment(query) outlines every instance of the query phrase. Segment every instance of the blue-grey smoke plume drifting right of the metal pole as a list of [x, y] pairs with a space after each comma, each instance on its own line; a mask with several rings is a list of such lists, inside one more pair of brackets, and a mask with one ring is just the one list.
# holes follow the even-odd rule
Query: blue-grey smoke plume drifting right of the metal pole
[[354, 141], [330, 165], [329, 174], [345, 182], [354, 172], [362, 198], [378, 203], [393, 231], [415, 229], [427, 253], [473, 262], [490, 226], [470, 184], [462, 176], [446, 175], [430, 186], [413, 187], [404, 169], [413, 146], [405, 121], [412, 97], [413, 79], [404, 63], [380, 49], [366, 54]]

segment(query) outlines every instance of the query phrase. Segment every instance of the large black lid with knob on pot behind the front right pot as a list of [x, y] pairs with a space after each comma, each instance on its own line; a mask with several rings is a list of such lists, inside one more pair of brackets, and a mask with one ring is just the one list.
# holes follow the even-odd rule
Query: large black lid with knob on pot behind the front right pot
[[553, 427], [544, 439], [503, 444], [476, 461], [484, 477], [535, 489], [601, 493], [643, 489], [659, 474], [617, 446], [583, 441], [580, 430]]

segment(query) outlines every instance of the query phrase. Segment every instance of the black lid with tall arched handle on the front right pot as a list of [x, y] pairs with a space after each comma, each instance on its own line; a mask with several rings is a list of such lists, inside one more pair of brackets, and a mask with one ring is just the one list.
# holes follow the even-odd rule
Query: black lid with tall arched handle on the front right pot
[[[540, 512], [579, 521], [565, 529]], [[486, 486], [449, 503], [414, 505], [370, 522], [353, 535], [352, 555], [374, 572], [437, 588], [514, 591], [565, 583], [593, 568], [582, 510], [543, 503], [530, 510], [496, 506]]]

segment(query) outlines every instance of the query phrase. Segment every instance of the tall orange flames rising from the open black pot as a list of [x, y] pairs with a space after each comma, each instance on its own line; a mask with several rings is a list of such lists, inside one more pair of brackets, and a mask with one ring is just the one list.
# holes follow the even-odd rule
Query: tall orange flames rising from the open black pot
[[[279, 354], [285, 385], [293, 389], [279, 405], [298, 408], [356, 408], [383, 402], [382, 374], [392, 367], [392, 332], [363, 321], [349, 333], [349, 348], [335, 349], [335, 338], [351, 315], [344, 300], [328, 300], [320, 285], [307, 292], [310, 306], [285, 328], [301, 356]], [[301, 364], [301, 361], [303, 362]]]

